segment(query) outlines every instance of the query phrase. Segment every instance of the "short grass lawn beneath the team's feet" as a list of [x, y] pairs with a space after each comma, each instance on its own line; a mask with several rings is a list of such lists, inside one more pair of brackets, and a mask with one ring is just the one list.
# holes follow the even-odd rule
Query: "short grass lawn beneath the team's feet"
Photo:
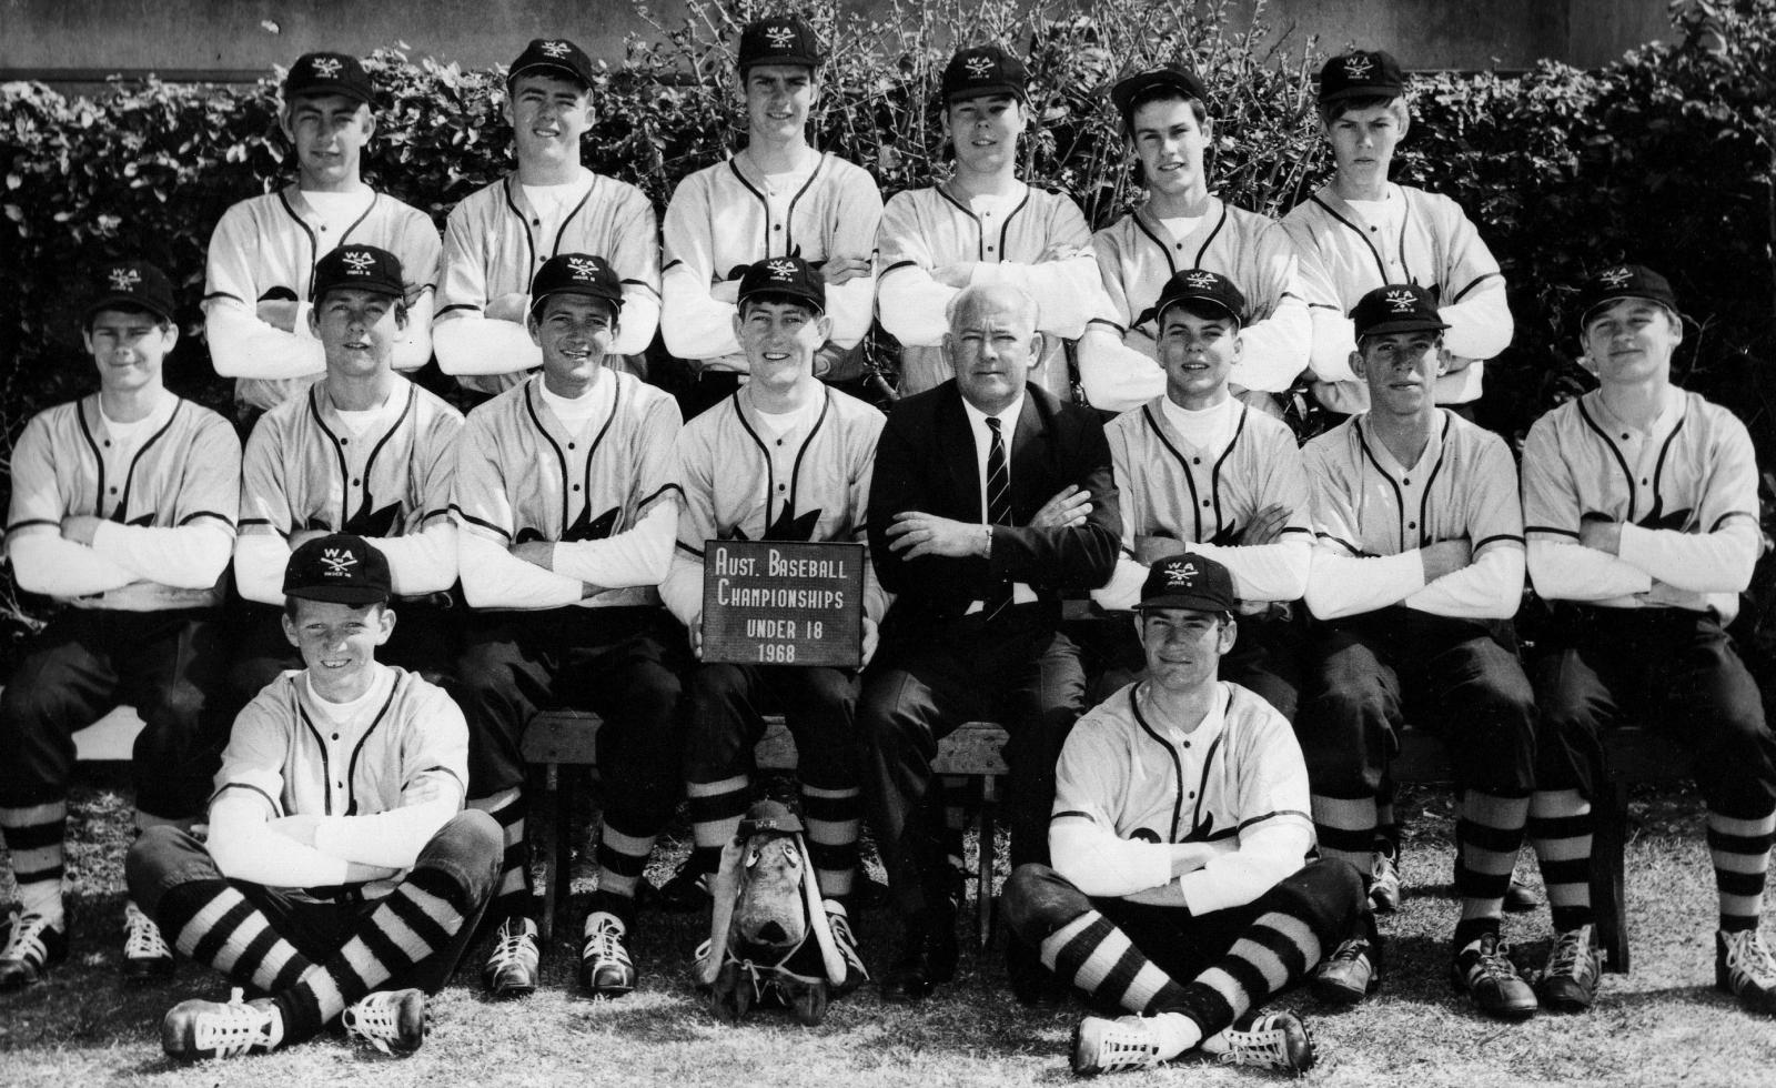
[[[1508, 1026], [1483, 1020], [1447, 985], [1449, 795], [1401, 798], [1408, 820], [1407, 900], [1384, 919], [1389, 976], [1355, 1012], [1325, 1015], [1305, 996], [1282, 1004], [1307, 1017], [1321, 1047], [1312, 1084], [1492, 1088], [1497, 1084], [1772, 1084], [1776, 1022], [1755, 1019], [1712, 990], [1714, 880], [1694, 795], [1648, 795], [1634, 805], [1629, 846], [1634, 974], [1607, 976], [1584, 1017], [1543, 1015]], [[27, 994], [0, 997], [0, 1084], [1057, 1084], [1073, 1077], [1066, 1047], [1082, 1008], [1030, 1013], [1003, 990], [998, 949], [964, 949], [955, 985], [924, 1006], [883, 1004], [874, 988], [833, 1004], [826, 1024], [797, 1028], [755, 1012], [718, 1024], [689, 985], [702, 937], [686, 916], [645, 916], [632, 951], [641, 988], [614, 1003], [574, 985], [572, 937], [545, 951], [543, 988], [531, 999], [487, 1001], [472, 971], [435, 1001], [433, 1033], [408, 1060], [389, 1060], [323, 1036], [263, 1058], [169, 1063], [160, 1017], [188, 996], [224, 997], [220, 976], [181, 964], [174, 981], [126, 990], [117, 981], [123, 843], [128, 796], [108, 772], [87, 773], [75, 796], [69, 873], [75, 949], [69, 964]], [[684, 852], [668, 857], [661, 878]], [[1524, 869], [1533, 871], [1533, 866]], [[11, 876], [5, 878], [7, 882]], [[1536, 880], [1540, 885], [1540, 882]], [[9, 898], [0, 885], [0, 900]], [[1506, 937], [1520, 962], [1545, 953], [1545, 912], [1513, 916]], [[865, 960], [884, 967], [892, 923], [867, 914]], [[480, 962], [480, 949], [471, 958]], [[1257, 1070], [1186, 1063], [1115, 1083], [1249, 1084]]]

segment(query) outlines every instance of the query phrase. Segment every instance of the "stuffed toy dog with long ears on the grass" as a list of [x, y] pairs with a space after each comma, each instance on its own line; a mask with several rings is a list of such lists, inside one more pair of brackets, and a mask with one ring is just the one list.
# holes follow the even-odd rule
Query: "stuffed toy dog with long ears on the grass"
[[821, 905], [801, 820], [778, 802], [746, 811], [721, 850], [710, 885], [714, 912], [698, 980], [710, 1008], [737, 1022], [755, 1004], [794, 1010], [803, 1024], [826, 1019], [826, 1003], [845, 985], [845, 958]]

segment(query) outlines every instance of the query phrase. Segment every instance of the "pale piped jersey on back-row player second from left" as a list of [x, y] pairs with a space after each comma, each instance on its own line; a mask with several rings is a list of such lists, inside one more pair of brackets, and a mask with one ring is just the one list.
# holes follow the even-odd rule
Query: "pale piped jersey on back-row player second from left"
[[[623, 311], [614, 354], [643, 373], [659, 327], [661, 256], [659, 220], [639, 188], [581, 171], [584, 194], [561, 222], [543, 222], [524, 196], [519, 176], [508, 174], [462, 199], [444, 228], [444, 270], [439, 277], [439, 368], [471, 389], [499, 393], [542, 366], [543, 356], [520, 322], [476, 327], [488, 302], [527, 295], [531, 279], [549, 258], [586, 252], [604, 258], [623, 281]], [[476, 336], [476, 334], [483, 336]], [[611, 359], [616, 363], [616, 359]]]

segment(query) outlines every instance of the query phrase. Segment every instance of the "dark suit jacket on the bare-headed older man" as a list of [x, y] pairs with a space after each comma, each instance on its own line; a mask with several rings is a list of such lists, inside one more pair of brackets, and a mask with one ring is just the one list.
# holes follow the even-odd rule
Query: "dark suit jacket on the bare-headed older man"
[[[888, 549], [888, 524], [895, 514], [924, 510], [980, 521], [980, 469], [955, 379], [893, 405], [876, 444], [870, 482], [870, 558], [883, 588], [895, 594], [886, 629], [906, 633], [952, 620], [1000, 580], [1028, 583], [1051, 603], [1058, 603], [1062, 592], [1098, 588], [1110, 580], [1122, 514], [1098, 414], [1025, 384], [1009, 468], [1014, 524], [993, 530], [991, 560], [900, 558]], [[1067, 484], [1092, 496], [1085, 524], [1028, 528], [1043, 503]]]

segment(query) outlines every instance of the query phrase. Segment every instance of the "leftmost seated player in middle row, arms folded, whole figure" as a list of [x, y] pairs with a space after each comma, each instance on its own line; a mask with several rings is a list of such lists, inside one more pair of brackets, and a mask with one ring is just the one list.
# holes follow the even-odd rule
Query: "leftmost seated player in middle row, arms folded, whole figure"
[[[167, 276], [103, 265], [82, 315], [99, 391], [37, 412], [12, 448], [7, 558], [21, 590], [64, 608], [0, 693], [0, 832], [18, 907], [0, 944], [0, 990], [67, 958], [62, 837], [75, 731], [135, 706], [137, 828], [202, 812], [227, 731], [213, 697], [226, 665], [220, 580], [234, 540], [240, 439], [162, 384], [179, 340]], [[160, 930], [124, 903], [128, 980], [172, 972]]]

